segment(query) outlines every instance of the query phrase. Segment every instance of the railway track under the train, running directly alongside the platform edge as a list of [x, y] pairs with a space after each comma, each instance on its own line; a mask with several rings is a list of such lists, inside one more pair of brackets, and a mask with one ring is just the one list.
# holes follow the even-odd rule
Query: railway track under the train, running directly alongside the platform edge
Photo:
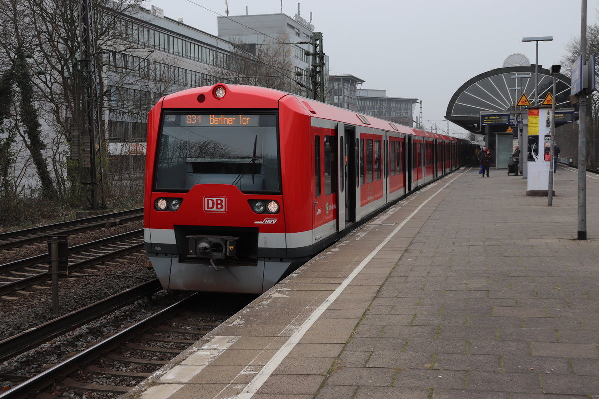
[[[19, 379], [22, 382], [0, 394], [0, 398], [35, 395], [45, 399], [63, 394], [94, 398], [93, 392], [102, 398], [117, 397], [217, 327], [248, 300], [240, 296], [241, 300], [231, 305], [228, 300], [206, 300], [207, 296], [218, 294], [188, 296], [35, 376], [4, 374], [15, 384]], [[207, 309], [207, 303], [225, 303], [225, 307]]]

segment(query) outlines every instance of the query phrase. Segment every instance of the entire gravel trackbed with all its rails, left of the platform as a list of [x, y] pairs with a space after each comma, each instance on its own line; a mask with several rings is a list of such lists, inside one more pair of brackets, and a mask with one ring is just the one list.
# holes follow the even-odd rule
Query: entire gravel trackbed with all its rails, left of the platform
[[[60, 310], [53, 315], [50, 255], [17, 255], [47, 251], [47, 237], [55, 234], [64, 233], [40, 234], [38, 242], [44, 246], [26, 244], [11, 253], [17, 260], [0, 264], [2, 399], [117, 397], [247, 303], [226, 313], [214, 307], [228, 303], [228, 296], [191, 307], [181, 301], [140, 321], [156, 311], [153, 301], [144, 297], [168, 297], [172, 302], [173, 296], [183, 294], [161, 290], [155, 273], [147, 269], [143, 230], [134, 230], [68, 248], [68, 265], [61, 270]], [[140, 278], [153, 280], [131, 288]], [[125, 292], [114, 294], [121, 290]]]

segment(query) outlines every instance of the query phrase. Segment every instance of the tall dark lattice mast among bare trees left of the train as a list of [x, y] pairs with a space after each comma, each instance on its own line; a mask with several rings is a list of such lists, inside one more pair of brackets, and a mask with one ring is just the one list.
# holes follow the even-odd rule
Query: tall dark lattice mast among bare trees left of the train
[[90, 209], [106, 208], [102, 170], [102, 134], [98, 107], [98, 68], [96, 66], [95, 25], [91, 0], [79, 7], [81, 88], [83, 89], [83, 132], [81, 132], [81, 165], [87, 170], [87, 205]]

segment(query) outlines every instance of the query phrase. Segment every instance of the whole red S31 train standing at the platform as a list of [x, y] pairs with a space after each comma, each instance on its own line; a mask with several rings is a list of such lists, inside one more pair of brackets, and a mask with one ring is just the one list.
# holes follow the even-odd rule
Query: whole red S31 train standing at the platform
[[174, 93], [148, 119], [147, 254], [165, 289], [262, 293], [474, 146], [264, 87]]

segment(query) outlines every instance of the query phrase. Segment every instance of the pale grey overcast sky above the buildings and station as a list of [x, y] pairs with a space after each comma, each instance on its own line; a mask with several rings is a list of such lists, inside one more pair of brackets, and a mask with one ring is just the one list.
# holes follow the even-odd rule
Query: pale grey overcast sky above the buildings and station
[[[510, 54], [535, 61], [534, 42], [522, 38], [553, 36], [539, 42], [539, 65], [559, 64], [565, 47], [580, 38], [580, 0], [228, 0], [229, 16], [283, 14], [310, 20], [323, 33], [331, 75], [351, 74], [362, 89], [422, 100], [425, 129], [444, 117], [455, 91], [470, 78], [501, 68]], [[164, 16], [217, 34], [225, 0], [149, 0]], [[599, 0], [587, 1], [587, 25], [597, 22]], [[563, 66], [568, 68], [569, 66]], [[415, 110], [415, 116], [418, 109]], [[430, 121], [430, 122], [429, 122]], [[449, 133], [464, 132], [450, 123]]]

